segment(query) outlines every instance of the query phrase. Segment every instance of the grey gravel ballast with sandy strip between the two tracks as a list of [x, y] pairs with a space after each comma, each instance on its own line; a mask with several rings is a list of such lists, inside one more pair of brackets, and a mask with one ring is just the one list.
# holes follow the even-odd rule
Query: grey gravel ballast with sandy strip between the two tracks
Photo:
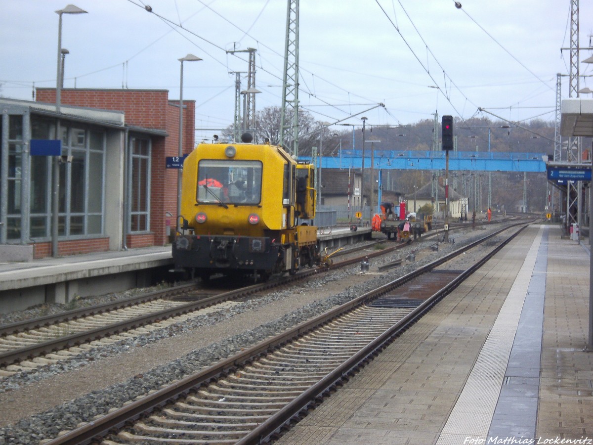
[[[420, 239], [403, 251], [371, 259], [371, 268], [366, 274], [360, 272], [358, 265], [320, 274], [286, 290], [272, 291], [138, 338], [91, 349], [68, 361], [2, 379], [0, 443], [38, 443], [56, 437], [60, 431], [75, 428], [79, 422], [92, 421], [114, 406], [122, 406], [171, 380], [181, 379], [346, 303], [499, 228], [499, 224], [492, 224], [464, 234], [451, 234], [449, 237], [454, 238], [455, 243], [440, 244], [438, 252], [430, 249], [436, 241]], [[498, 241], [502, 238], [495, 237]], [[483, 255], [484, 249], [492, 249], [494, 243], [487, 244], [489, 246], [479, 252], [458, 256], [448, 267], [467, 269]], [[382, 264], [406, 258], [411, 249], [415, 249], [416, 262], [403, 262], [398, 268], [376, 272]], [[129, 296], [130, 293], [122, 293], [85, 298], [84, 304]], [[58, 307], [42, 309], [59, 311]], [[0, 323], [37, 317], [39, 315], [34, 314], [37, 310], [39, 308], [6, 314], [0, 317]]]

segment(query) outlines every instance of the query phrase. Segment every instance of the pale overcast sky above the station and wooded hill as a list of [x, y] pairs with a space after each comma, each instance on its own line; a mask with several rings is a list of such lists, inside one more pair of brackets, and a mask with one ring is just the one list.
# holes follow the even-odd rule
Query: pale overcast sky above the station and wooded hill
[[[68, 0], [0, 0], [0, 96], [55, 87], [58, 14]], [[235, 75], [256, 53], [256, 105], [280, 106], [286, 0], [72, 0], [63, 15], [65, 88], [157, 88], [196, 101], [196, 138], [232, 124]], [[324, 122], [405, 125], [482, 107], [512, 121], [554, 120], [568, 75], [569, 0], [300, 0], [301, 106]], [[144, 9], [150, 5], [151, 14]], [[593, 2], [580, 2], [580, 46]], [[593, 54], [581, 51], [581, 60]], [[581, 75], [593, 64], [581, 64]], [[244, 76], [244, 74], [243, 74]], [[562, 96], [568, 97], [568, 77]], [[247, 81], [243, 78], [242, 87]], [[593, 78], [581, 88], [593, 90]], [[436, 87], [436, 88], [435, 88]], [[583, 97], [592, 97], [591, 94]], [[375, 107], [384, 103], [385, 107]], [[361, 114], [362, 113], [362, 114]], [[352, 116], [352, 117], [350, 117]], [[344, 129], [344, 127], [337, 127]]]

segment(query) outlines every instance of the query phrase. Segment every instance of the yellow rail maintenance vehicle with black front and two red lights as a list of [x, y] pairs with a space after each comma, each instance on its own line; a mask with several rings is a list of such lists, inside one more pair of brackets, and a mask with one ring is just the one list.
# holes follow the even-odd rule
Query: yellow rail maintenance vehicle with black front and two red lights
[[176, 270], [202, 279], [214, 274], [294, 274], [314, 266], [317, 247], [313, 164], [299, 164], [282, 147], [199, 144], [183, 163]]

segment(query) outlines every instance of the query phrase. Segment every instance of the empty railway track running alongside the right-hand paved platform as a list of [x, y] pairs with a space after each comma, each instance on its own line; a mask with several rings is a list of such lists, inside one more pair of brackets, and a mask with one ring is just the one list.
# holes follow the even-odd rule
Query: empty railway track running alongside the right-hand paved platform
[[[438, 267], [499, 232], [47, 444], [91, 443], [106, 435], [104, 444], [269, 441], [371, 360], [519, 231], [466, 271]], [[403, 284], [406, 287], [402, 288]], [[130, 422], [135, 422], [132, 427], [127, 426]]]

